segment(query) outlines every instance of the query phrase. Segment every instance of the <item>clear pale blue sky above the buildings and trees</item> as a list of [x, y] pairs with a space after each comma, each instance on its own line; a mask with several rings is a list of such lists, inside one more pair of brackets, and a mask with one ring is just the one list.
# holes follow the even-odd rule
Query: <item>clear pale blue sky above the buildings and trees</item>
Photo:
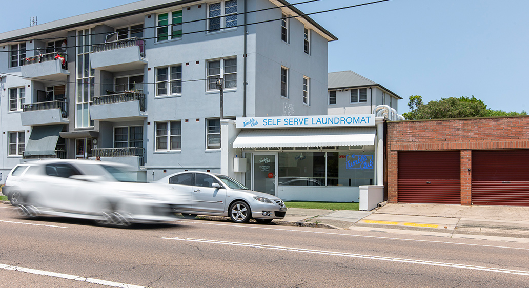
[[[0, 17], [0, 32], [29, 26], [31, 16], [42, 24], [130, 2], [9, 1], [3, 11], [16, 13]], [[298, 8], [312, 13], [365, 2], [320, 0]], [[340, 39], [329, 43], [329, 72], [352, 70], [380, 83], [404, 98], [399, 113], [408, 111], [411, 95], [425, 103], [474, 95], [494, 110], [529, 112], [528, 11], [526, 0], [390, 0], [311, 17]]]

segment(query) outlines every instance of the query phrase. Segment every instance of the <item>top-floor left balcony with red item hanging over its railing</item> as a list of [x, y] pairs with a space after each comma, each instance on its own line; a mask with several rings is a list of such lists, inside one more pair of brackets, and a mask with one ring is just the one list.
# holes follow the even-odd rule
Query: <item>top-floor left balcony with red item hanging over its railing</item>
[[40, 81], [63, 81], [70, 75], [66, 53], [47, 53], [24, 58], [22, 78]]

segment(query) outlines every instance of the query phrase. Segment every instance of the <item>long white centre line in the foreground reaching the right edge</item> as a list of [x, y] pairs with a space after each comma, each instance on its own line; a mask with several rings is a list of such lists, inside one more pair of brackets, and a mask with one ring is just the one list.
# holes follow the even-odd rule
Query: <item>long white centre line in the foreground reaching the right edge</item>
[[167, 238], [167, 237], [162, 237], [161, 239], [191, 241], [191, 242], [221, 244], [221, 245], [231, 245], [231, 246], [242, 246], [242, 247], [252, 247], [252, 248], [262, 248], [262, 249], [273, 249], [273, 250], [284, 250], [284, 251], [290, 251], [290, 252], [323, 254], [323, 255], [363, 258], [363, 259], [371, 259], [371, 260], [412, 263], [412, 264], [451, 267], [451, 268], [463, 268], [463, 269], [471, 269], [471, 270], [481, 270], [481, 271], [488, 271], [488, 272], [529, 276], [529, 271], [502, 269], [502, 268], [493, 268], [493, 267], [482, 267], [482, 266], [474, 266], [474, 265], [466, 265], [466, 264], [433, 262], [433, 261], [424, 261], [424, 260], [417, 260], [417, 259], [394, 258], [394, 257], [384, 257], [384, 256], [375, 256], [375, 255], [362, 255], [362, 254], [333, 252], [333, 251], [325, 251], [325, 250], [313, 250], [313, 249], [303, 249], [303, 248], [295, 248], [295, 247], [270, 246], [270, 245], [262, 245], [262, 244], [238, 243], [238, 242], [206, 240], [206, 239]]

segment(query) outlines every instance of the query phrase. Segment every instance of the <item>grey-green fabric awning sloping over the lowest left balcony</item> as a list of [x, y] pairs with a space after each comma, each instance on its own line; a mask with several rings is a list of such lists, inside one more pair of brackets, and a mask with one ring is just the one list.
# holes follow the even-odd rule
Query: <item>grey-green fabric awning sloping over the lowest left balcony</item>
[[24, 155], [55, 155], [55, 146], [64, 125], [34, 126]]

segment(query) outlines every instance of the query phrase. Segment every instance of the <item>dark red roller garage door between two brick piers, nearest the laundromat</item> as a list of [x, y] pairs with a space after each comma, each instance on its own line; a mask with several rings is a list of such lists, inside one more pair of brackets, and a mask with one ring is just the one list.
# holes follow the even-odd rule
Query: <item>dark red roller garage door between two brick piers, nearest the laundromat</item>
[[400, 203], [461, 204], [459, 151], [399, 152]]

